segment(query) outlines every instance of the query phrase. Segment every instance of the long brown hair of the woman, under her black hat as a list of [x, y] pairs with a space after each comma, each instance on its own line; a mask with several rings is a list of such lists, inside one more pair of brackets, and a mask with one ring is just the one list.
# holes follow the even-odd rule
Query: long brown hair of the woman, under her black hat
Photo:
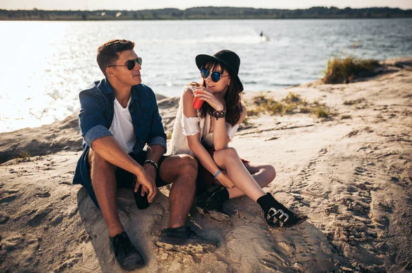
[[[210, 71], [216, 67], [218, 63], [212, 63], [211, 65], [208, 63], [207, 67], [210, 67]], [[220, 68], [223, 71], [227, 71], [230, 75], [231, 82], [229, 84], [229, 87], [227, 88], [227, 92], [225, 94], [225, 102], [226, 102], [226, 122], [229, 122], [231, 126], [235, 126], [236, 123], [238, 123], [240, 119], [240, 112], [242, 112], [242, 102], [240, 97], [240, 86], [238, 81], [236, 80], [236, 76], [234, 76], [232, 73], [229, 72], [222, 64], [219, 64]], [[203, 80], [202, 84], [199, 84], [198, 82], [191, 82], [190, 84], [187, 84], [190, 86], [206, 86], [205, 80]], [[203, 119], [206, 117], [207, 112], [211, 112], [213, 108], [207, 103], [204, 102], [201, 109], [198, 110], [198, 116]]]

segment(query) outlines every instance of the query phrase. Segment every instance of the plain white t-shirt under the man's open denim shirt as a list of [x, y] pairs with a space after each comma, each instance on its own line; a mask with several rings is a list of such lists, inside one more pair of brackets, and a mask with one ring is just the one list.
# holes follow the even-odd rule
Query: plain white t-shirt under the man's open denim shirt
[[135, 130], [133, 128], [132, 116], [128, 110], [128, 106], [132, 100], [129, 97], [126, 108], [120, 105], [119, 101], [115, 99], [115, 114], [113, 115], [113, 121], [108, 129], [119, 143], [122, 150], [127, 154], [133, 151], [133, 147], [136, 143]]

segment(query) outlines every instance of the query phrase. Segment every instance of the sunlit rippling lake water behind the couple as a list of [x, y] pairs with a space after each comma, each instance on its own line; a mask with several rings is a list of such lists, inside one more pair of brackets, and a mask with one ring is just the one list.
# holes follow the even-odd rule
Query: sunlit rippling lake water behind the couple
[[0, 21], [0, 38], [0, 132], [8, 132], [76, 111], [78, 93], [102, 78], [96, 49], [111, 38], [136, 43], [143, 82], [156, 93], [178, 96], [200, 80], [195, 56], [220, 49], [240, 56], [245, 91], [271, 91], [321, 78], [333, 56], [412, 56], [412, 19]]

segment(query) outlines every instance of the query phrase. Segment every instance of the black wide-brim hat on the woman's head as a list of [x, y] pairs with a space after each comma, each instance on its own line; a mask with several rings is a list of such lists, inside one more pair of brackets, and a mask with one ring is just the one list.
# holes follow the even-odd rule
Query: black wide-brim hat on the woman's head
[[199, 70], [201, 70], [201, 67], [205, 67], [208, 62], [217, 62], [218, 64], [222, 64], [229, 72], [231, 78], [239, 83], [239, 93], [243, 91], [243, 84], [238, 76], [240, 67], [240, 58], [238, 54], [233, 51], [223, 49], [214, 54], [214, 56], [205, 54], [196, 56], [196, 65]]

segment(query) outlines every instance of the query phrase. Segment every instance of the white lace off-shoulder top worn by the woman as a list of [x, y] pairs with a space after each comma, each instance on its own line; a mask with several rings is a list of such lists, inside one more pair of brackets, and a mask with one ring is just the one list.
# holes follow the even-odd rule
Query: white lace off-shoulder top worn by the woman
[[[191, 87], [191, 86], [189, 86]], [[192, 90], [193, 91], [193, 90]], [[170, 147], [168, 147], [169, 154], [190, 154], [194, 156], [192, 150], [189, 148], [187, 142], [187, 136], [193, 136], [199, 134], [199, 141], [205, 142], [208, 146], [214, 147], [213, 144], [213, 132], [210, 130], [210, 115], [207, 114], [205, 118], [200, 117], [186, 117], [183, 114], [183, 95], [179, 100], [179, 108], [177, 110], [176, 121], [174, 121], [172, 140], [170, 141]], [[230, 123], [226, 123], [226, 130], [229, 139], [235, 137], [238, 131], [239, 124], [231, 126]]]

